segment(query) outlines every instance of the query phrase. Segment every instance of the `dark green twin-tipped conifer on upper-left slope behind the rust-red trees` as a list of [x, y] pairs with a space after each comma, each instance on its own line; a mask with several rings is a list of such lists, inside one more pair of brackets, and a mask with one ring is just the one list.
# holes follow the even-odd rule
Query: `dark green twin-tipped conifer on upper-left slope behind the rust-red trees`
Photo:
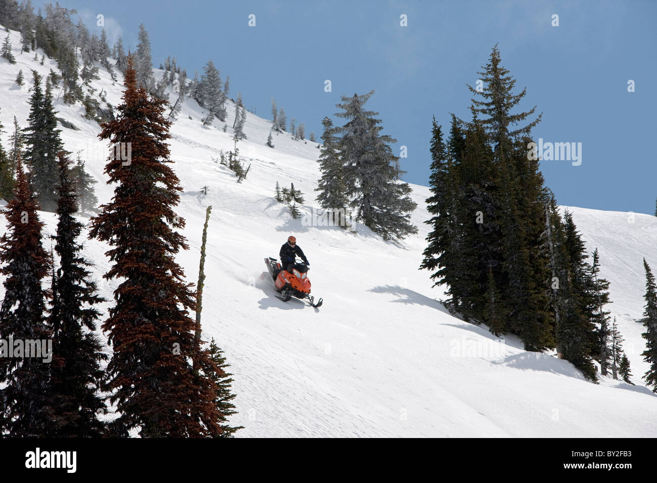
[[[49, 85], [47, 83], [47, 85]], [[29, 126], [25, 129], [26, 162], [30, 168], [30, 188], [41, 210], [54, 212], [57, 206], [57, 152], [63, 149], [60, 129], [53, 110], [52, 93], [41, 91], [41, 76], [34, 72], [34, 91], [30, 98]]]

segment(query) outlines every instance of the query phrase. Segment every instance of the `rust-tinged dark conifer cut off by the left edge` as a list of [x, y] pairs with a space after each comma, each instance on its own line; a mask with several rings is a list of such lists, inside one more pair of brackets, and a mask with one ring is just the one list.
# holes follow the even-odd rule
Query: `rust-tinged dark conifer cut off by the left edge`
[[[51, 259], [43, 249], [43, 225], [20, 156], [16, 163], [16, 190], [4, 214], [7, 231], [0, 239], [0, 273], [5, 298], [0, 308], [0, 334], [14, 340], [52, 340], [44, 317], [46, 292], [41, 280]], [[52, 353], [51, 353], [52, 354]], [[43, 354], [42, 354], [43, 355]], [[0, 357], [0, 434], [10, 437], [47, 437], [57, 434], [51, 391], [51, 364], [47, 357]]]

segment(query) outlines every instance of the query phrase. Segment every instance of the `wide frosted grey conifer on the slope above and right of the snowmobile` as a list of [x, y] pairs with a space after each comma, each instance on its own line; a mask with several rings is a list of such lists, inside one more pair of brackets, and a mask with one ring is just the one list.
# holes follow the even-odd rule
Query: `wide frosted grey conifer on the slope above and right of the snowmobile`
[[398, 241], [417, 233], [417, 227], [410, 223], [410, 212], [417, 204], [408, 196], [411, 187], [397, 182], [401, 172], [394, 167], [398, 158], [390, 149], [396, 139], [380, 135], [380, 120], [374, 118], [378, 112], [363, 110], [373, 94], [343, 96], [343, 103], [337, 104], [344, 112], [336, 116], [347, 120], [338, 128], [342, 133], [339, 150], [350, 206], [357, 218], [384, 240]]

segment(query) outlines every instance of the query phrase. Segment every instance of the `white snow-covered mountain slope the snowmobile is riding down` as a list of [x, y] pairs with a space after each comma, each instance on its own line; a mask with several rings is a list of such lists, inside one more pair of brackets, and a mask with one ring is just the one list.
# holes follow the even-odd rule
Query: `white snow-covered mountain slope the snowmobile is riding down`
[[[16, 32], [11, 39], [20, 45]], [[45, 75], [57, 68], [47, 59], [40, 66], [34, 53], [18, 55], [14, 49], [14, 55], [15, 65], [0, 59], [0, 121], [6, 130], [13, 116], [26, 126], [30, 69]], [[20, 68], [26, 85], [18, 88]], [[113, 85], [102, 67], [101, 76], [95, 85], [116, 106], [122, 85]], [[84, 150], [87, 169], [100, 181], [97, 195], [109, 200], [113, 188], [102, 174], [99, 127], [83, 119], [79, 104], [58, 102], [56, 108], [80, 129], [62, 128], [66, 149]], [[273, 191], [276, 181], [294, 182], [306, 196], [302, 212], [310, 212], [319, 177], [317, 144], [284, 133], [273, 136], [271, 149], [265, 145], [271, 122], [248, 114], [248, 140], [238, 147], [252, 166], [246, 181], [237, 184], [232, 172], [211, 159], [233, 148], [234, 104], [227, 110], [224, 133], [219, 121], [203, 127], [204, 110], [188, 99], [171, 129], [171, 157], [185, 188], [179, 214], [187, 221], [191, 246], [179, 262], [193, 282], [205, 209], [213, 206], [202, 322], [204, 338], [214, 337], [232, 364], [239, 413], [231, 423], [245, 426], [237, 436], [657, 434], [657, 399], [639, 379], [646, 367], [639, 356], [642, 327], [635, 321], [643, 306], [642, 258], [657, 267], [657, 218], [636, 214], [629, 222], [626, 213], [570, 208], [587, 246], [600, 250], [602, 275], [611, 281], [610, 308], [637, 382], [592, 384], [570, 363], [525, 352], [515, 338], [495, 338], [486, 327], [451, 317], [437, 302], [442, 292], [417, 269], [427, 231], [426, 187], [413, 186], [419, 203], [413, 221], [420, 233], [403, 247], [361, 225], [357, 235], [304, 225], [290, 218]], [[8, 138], [2, 134], [5, 146]], [[44, 213], [43, 219], [52, 232], [53, 215]], [[319, 310], [298, 300], [281, 302], [271, 281], [261, 279], [263, 258], [277, 256], [290, 234], [311, 262], [313, 294], [325, 300]], [[85, 242], [99, 287], [111, 298], [115, 283], [101, 279], [108, 269], [104, 250], [97, 241]]]

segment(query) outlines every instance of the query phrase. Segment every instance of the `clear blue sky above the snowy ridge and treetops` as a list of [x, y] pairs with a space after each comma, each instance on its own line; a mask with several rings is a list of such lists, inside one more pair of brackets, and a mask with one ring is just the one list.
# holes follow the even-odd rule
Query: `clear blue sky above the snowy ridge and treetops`
[[[45, 2], [44, 2], [45, 3]], [[34, 3], [35, 7], [40, 4]], [[231, 97], [269, 118], [271, 97], [321, 133], [340, 95], [376, 89], [368, 108], [384, 133], [407, 147], [405, 181], [426, 185], [432, 116], [468, 117], [476, 72], [499, 44], [503, 65], [527, 87], [520, 106], [537, 106], [533, 131], [545, 142], [581, 143], [581, 165], [543, 161], [560, 204], [653, 214], [657, 2], [654, 1], [187, 1], [61, 0], [95, 28], [103, 14], [110, 40], [137, 45], [150, 34], [158, 66], [177, 57], [189, 76], [212, 58]], [[256, 26], [248, 26], [255, 14]], [[400, 26], [400, 15], [407, 26]], [[552, 26], [558, 14], [559, 26]], [[325, 80], [332, 91], [325, 92]], [[627, 82], [635, 81], [635, 92]], [[652, 94], [650, 89], [653, 89]], [[263, 140], [264, 141], [264, 140]]]

